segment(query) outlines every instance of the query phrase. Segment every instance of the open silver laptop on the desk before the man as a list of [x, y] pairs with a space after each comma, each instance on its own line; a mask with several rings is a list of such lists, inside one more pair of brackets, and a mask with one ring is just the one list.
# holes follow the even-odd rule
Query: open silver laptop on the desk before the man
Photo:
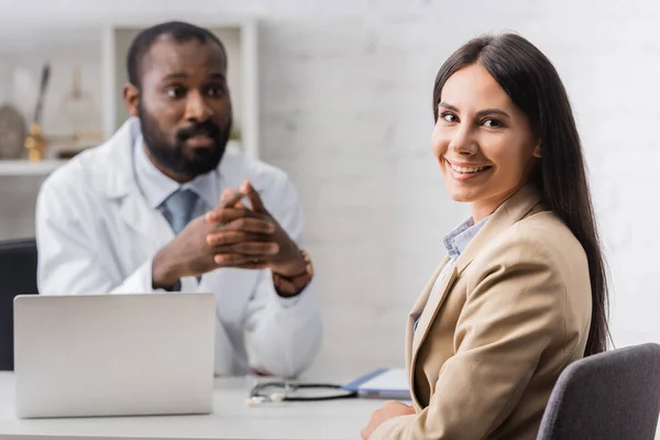
[[20, 418], [212, 411], [212, 294], [14, 299]]

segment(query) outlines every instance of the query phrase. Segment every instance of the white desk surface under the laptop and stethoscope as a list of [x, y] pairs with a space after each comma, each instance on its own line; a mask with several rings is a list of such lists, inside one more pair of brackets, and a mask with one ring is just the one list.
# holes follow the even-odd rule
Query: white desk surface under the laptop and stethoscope
[[208, 416], [28, 419], [14, 414], [13, 373], [0, 372], [0, 439], [359, 439], [380, 400], [264, 404], [249, 408], [250, 378], [216, 381]]

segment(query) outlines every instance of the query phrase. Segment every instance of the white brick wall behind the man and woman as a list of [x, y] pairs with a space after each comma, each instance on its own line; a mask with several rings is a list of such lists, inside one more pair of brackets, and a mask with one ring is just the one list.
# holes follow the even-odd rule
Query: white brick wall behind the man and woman
[[[327, 320], [317, 370], [403, 364], [404, 323], [466, 216], [429, 153], [431, 91], [469, 37], [516, 30], [556, 63], [584, 140], [617, 345], [660, 341], [660, 3], [503, 0], [0, 0], [0, 26], [251, 14], [262, 155], [299, 187]], [[3, 24], [4, 23], [4, 24]]]

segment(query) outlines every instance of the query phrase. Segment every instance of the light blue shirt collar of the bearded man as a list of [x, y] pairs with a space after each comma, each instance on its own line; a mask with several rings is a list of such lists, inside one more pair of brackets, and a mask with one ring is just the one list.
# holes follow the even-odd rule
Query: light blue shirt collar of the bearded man
[[220, 178], [217, 169], [199, 175], [183, 185], [164, 175], [151, 162], [144, 151], [142, 134], [135, 136], [133, 145], [135, 180], [152, 208], [158, 208], [177, 189], [191, 189], [208, 206], [215, 207], [220, 201]]

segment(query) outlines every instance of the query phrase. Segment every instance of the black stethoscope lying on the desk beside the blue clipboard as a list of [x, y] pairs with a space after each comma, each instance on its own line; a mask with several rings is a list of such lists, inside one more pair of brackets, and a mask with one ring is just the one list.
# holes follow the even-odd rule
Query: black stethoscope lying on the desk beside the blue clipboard
[[[282, 392], [267, 393], [268, 388], [282, 388]], [[298, 389], [334, 389], [342, 391], [339, 394], [330, 394], [326, 396], [294, 396]], [[250, 389], [248, 406], [253, 407], [260, 404], [280, 403], [280, 402], [322, 402], [337, 400], [345, 398], [356, 398], [358, 392], [342, 389], [341, 385], [334, 384], [295, 384], [289, 382], [263, 382], [257, 383]]]

